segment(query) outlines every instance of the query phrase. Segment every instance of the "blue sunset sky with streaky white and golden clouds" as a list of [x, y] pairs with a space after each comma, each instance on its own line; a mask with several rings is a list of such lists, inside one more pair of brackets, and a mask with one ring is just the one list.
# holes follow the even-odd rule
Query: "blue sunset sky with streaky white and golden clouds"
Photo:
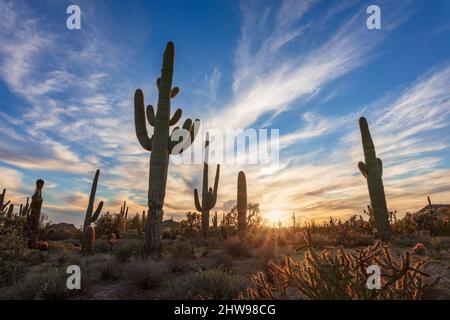
[[[80, 30], [66, 27], [71, 4]], [[371, 4], [379, 30], [366, 26]], [[124, 200], [144, 210], [150, 153], [134, 133], [133, 95], [141, 88], [156, 105], [173, 41], [182, 120], [279, 130], [278, 166], [222, 163], [219, 213], [235, 204], [243, 170], [248, 201], [266, 217], [361, 214], [362, 115], [389, 209], [401, 216], [426, 196], [449, 203], [449, 39], [447, 0], [0, 0], [0, 188], [18, 205], [43, 178], [48, 219], [78, 226], [99, 168], [104, 212]], [[165, 218], [194, 210], [202, 168], [170, 164]]]

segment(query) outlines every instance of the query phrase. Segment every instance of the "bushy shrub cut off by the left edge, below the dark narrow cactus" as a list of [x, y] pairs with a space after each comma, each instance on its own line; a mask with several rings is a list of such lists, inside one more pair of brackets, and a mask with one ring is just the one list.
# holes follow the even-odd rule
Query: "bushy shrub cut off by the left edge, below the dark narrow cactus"
[[0, 285], [14, 283], [31, 255], [21, 232], [0, 234]]

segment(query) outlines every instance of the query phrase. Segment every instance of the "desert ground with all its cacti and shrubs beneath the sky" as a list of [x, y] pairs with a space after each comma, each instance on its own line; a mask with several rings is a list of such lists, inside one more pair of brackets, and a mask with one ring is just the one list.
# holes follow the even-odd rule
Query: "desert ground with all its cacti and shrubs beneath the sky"
[[[383, 165], [369, 125], [359, 121], [370, 204], [347, 219], [270, 226], [257, 203], [248, 201], [246, 175], [236, 177], [235, 205], [211, 216], [220, 165], [209, 186], [208, 145], [201, 198], [186, 204], [181, 221], [164, 220], [169, 155], [192, 144], [199, 120], [177, 109], [171, 116], [174, 44], [163, 57], [157, 110], [145, 111], [135, 92], [135, 129], [150, 153], [148, 210], [117, 213], [95, 205], [100, 170], [93, 179], [83, 226], [47, 223], [41, 214], [44, 181], [36, 181], [31, 202], [19, 208], [0, 195], [1, 299], [449, 299], [450, 206], [428, 204], [400, 216], [389, 211]], [[149, 137], [146, 121], [154, 127]], [[362, 182], [363, 187], [363, 182]], [[425, 196], [424, 196], [425, 198]], [[44, 203], [44, 204], [43, 204]], [[96, 208], [94, 210], [94, 208]], [[81, 290], [66, 287], [69, 265], [82, 270]], [[370, 266], [382, 273], [381, 289], [367, 286]]]

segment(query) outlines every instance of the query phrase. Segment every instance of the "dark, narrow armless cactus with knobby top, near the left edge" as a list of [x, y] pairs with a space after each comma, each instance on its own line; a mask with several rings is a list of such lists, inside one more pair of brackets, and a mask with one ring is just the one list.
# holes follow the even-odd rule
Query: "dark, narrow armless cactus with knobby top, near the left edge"
[[42, 208], [42, 188], [44, 187], [44, 180], [36, 180], [36, 188], [31, 196], [30, 214], [27, 217], [26, 233], [28, 238], [28, 247], [30, 249], [37, 248], [38, 229], [41, 220]]

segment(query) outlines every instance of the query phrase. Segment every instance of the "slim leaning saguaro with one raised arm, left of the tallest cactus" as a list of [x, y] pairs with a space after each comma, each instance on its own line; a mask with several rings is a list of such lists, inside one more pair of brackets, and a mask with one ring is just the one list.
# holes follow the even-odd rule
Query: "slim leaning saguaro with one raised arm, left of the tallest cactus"
[[[95, 229], [92, 223], [97, 221], [103, 208], [103, 201], [100, 201], [97, 209], [94, 212], [95, 193], [97, 192], [98, 177], [100, 170], [95, 172], [94, 181], [92, 182], [91, 193], [89, 195], [89, 203], [84, 217], [83, 224], [83, 241], [81, 244], [81, 251], [89, 253], [95, 242]], [[94, 213], [93, 213], [94, 212]]]

